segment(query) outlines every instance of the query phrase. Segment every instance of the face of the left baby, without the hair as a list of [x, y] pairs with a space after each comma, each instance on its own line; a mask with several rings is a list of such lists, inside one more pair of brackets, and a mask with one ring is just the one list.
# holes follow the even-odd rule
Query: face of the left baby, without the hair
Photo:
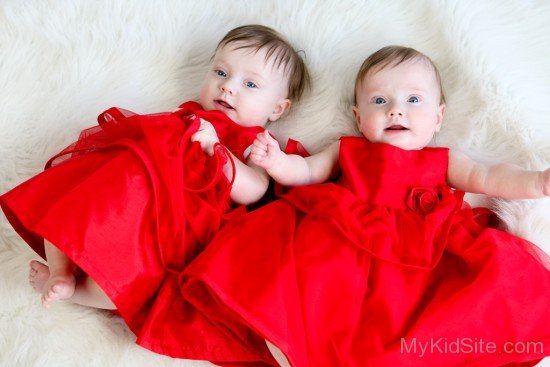
[[218, 49], [200, 91], [206, 110], [220, 110], [242, 126], [264, 126], [290, 106], [283, 68], [266, 62], [266, 50], [236, 49], [234, 42]]

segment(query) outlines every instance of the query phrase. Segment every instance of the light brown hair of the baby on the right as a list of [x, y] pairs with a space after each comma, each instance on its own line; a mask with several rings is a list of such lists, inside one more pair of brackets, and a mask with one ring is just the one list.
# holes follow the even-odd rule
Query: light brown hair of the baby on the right
[[355, 78], [355, 92], [353, 95], [353, 103], [357, 105], [357, 88], [361, 85], [363, 78], [371, 70], [381, 70], [387, 66], [397, 66], [408, 60], [423, 60], [432, 66], [437, 83], [439, 84], [440, 97], [439, 103], [445, 103], [445, 94], [443, 93], [443, 85], [441, 84], [441, 76], [434, 62], [422, 52], [410, 47], [403, 46], [386, 46], [371, 54], [363, 62]]

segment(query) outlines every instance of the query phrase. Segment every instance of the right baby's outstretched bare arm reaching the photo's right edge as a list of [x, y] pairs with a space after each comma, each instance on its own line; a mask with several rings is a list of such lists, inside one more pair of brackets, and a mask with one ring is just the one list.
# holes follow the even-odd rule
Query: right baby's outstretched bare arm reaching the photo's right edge
[[503, 199], [550, 196], [550, 169], [528, 171], [507, 163], [486, 166], [456, 152], [449, 152], [447, 180], [459, 190]]

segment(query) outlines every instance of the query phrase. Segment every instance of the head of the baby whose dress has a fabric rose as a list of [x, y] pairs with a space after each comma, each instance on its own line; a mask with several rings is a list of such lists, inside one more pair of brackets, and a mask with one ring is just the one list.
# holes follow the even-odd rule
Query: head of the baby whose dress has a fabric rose
[[441, 128], [444, 113], [439, 71], [421, 52], [388, 46], [361, 65], [353, 114], [368, 140], [422, 149]]

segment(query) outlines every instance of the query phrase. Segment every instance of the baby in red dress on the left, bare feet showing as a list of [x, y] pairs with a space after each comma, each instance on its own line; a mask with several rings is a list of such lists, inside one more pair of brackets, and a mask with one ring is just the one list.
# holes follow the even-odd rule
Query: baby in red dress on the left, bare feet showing
[[271, 360], [226, 341], [181, 298], [177, 277], [233, 203], [264, 195], [268, 176], [248, 159], [250, 146], [308, 85], [279, 33], [235, 28], [216, 48], [198, 103], [154, 115], [107, 110], [48, 169], [2, 195], [14, 228], [48, 262], [31, 262], [29, 274], [44, 306], [117, 309], [140, 345], [174, 357]]

